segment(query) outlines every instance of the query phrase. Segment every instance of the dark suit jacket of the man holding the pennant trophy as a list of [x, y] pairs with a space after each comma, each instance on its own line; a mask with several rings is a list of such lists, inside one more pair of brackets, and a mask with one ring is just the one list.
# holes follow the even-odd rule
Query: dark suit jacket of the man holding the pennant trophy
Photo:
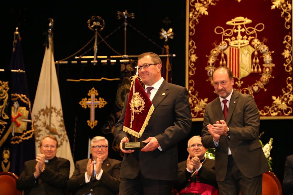
[[[123, 131], [125, 108], [116, 124], [114, 135], [118, 144], [123, 137], [134, 142], [134, 136]], [[139, 171], [146, 179], [177, 180], [178, 179], [178, 149], [177, 143], [185, 138], [191, 130], [191, 111], [188, 101], [188, 91], [184, 87], [166, 82], [161, 84], [152, 103], [154, 112], [140, 139], [156, 137], [163, 151], [155, 149], [151, 152], [136, 150], [124, 154], [120, 177], [133, 179]]]

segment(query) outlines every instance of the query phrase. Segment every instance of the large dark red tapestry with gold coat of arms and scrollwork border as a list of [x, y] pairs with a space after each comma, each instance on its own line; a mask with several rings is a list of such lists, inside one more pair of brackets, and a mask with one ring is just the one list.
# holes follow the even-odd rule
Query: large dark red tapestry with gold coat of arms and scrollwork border
[[217, 97], [211, 77], [227, 65], [234, 89], [251, 94], [261, 119], [292, 113], [292, 3], [285, 0], [187, 0], [186, 87], [193, 121]]

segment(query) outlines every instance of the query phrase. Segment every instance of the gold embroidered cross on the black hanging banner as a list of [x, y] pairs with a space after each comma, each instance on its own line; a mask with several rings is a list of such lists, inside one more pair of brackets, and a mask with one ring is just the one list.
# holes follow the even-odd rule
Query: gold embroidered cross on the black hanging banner
[[88, 91], [88, 96], [91, 98], [83, 98], [79, 104], [84, 109], [91, 108], [90, 111], [90, 120], [87, 120], [88, 126], [93, 129], [98, 124], [98, 121], [95, 120], [95, 108], [103, 108], [108, 102], [105, 101], [104, 98], [99, 97], [99, 100], [96, 98], [98, 96], [98, 90], [96, 90], [94, 87]]

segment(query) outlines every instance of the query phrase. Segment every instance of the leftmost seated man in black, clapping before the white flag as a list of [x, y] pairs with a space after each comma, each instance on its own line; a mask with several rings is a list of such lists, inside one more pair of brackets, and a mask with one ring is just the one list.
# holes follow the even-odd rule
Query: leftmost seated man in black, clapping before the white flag
[[69, 178], [70, 162], [56, 157], [58, 141], [49, 135], [41, 141], [40, 151], [35, 160], [26, 161], [16, 188], [24, 194], [65, 194]]

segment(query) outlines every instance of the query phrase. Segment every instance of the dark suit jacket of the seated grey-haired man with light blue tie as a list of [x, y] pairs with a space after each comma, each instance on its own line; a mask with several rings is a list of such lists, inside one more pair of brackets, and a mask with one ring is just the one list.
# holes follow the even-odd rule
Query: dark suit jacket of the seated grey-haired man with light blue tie
[[[90, 182], [86, 183], [84, 174], [89, 159], [77, 161], [72, 177], [67, 182], [67, 187], [75, 194], [108, 195], [117, 194], [119, 191], [119, 173], [121, 161], [106, 158], [102, 163], [103, 174], [100, 180], [91, 177]], [[93, 160], [93, 159], [91, 159]]]

